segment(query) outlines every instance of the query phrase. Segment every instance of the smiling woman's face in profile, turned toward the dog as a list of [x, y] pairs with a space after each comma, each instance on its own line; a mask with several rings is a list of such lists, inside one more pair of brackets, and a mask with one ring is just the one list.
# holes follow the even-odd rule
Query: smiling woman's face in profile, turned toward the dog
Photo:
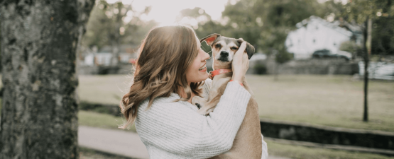
[[201, 49], [201, 44], [199, 43], [199, 39], [197, 39], [197, 48], [198, 55], [193, 61], [193, 63], [186, 70], [186, 79], [188, 83], [197, 83], [204, 81], [208, 78], [209, 74], [207, 73], [207, 59], [209, 59], [209, 54], [204, 52]]

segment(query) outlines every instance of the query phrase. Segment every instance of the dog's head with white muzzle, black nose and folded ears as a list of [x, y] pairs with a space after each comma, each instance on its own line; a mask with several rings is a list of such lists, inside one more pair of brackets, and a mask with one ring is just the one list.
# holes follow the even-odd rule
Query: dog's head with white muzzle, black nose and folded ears
[[[234, 39], [231, 37], [224, 37], [215, 33], [199, 40], [199, 42], [203, 41], [207, 42], [207, 44], [212, 47], [214, 69], [224, 69], [231, 68], [234, 54], [244, 40], [242, 38]], [[246, 53], [249, 59], [251, 59], [254, 54], [254, 47], [249, 44], [249, 42], [247, 42], [246, 45]]]

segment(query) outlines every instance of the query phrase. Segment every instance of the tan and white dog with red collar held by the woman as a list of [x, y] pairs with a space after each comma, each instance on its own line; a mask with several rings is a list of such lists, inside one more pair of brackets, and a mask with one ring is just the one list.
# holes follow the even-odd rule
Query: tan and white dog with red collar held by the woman
[[[209, 78], [212, 78], [212, 86], [209, 93], [209, 98], [204, 99], [199, 96], [192, 98], [192, 104], [197, 105], [200, 109], [197, 111], [199, 114], [209, 114], [214, 111], [227, 83], [231, 80], [231, 62], [235, 52], [238, 50], [241, 43], [244, 41], [242, 38], [234, 39], [224, 37], [219, 34], [208, 35], [207, 37], [199, 40], [200, 42], [207, 42], [212, 47], [212, 57], [214, 58], [213, 69], [209, 72]], [[254, 54], [254, 47], [247, 43], [246, 54], [248, 59]], [[252, 94], [252, 98], [248, 102], [246, 114], [236, 134], [233, 146], [230, 151], [221, 155], [214, 156], [213, 158], [256, 158], [261, 159], [262, 137], [260, 128], [260, 118], [258, 117], [258, 105], [253, 98], [253, 93], [243, 77], [243, 87]]]

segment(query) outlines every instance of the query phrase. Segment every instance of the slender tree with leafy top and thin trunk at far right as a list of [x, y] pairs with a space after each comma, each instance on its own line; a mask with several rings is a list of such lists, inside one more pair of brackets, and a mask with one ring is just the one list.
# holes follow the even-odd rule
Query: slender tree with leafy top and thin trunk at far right
[[[339, 15], [350, 23], [358, 23], [363, 30], [363, 121], [368, 122], [368, 65], [370, 55], [372, 50], [374, 50], [373, 54], [393, 54], [394, 4], [391, 0], [351, 0], [345, 5], [336, 3], [336, 1], [327, 1], [326, 3], [327, 6], [335, 6], [330, 4], [336, 4], [336, 7], [332, 7], [335, 8], [332, 9], [335, 15]], [[373, 21], [375, 21], [374, 24]], [[373, 29], [373, 25], [376, 26], [376, 30]]]

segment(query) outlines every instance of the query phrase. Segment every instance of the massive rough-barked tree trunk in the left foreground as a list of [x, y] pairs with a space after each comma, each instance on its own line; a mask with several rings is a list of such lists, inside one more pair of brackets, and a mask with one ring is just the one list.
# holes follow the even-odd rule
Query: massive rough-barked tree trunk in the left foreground
[[93, 6], [0, 1], [0, 158], [79, 158], [75, 61]]

